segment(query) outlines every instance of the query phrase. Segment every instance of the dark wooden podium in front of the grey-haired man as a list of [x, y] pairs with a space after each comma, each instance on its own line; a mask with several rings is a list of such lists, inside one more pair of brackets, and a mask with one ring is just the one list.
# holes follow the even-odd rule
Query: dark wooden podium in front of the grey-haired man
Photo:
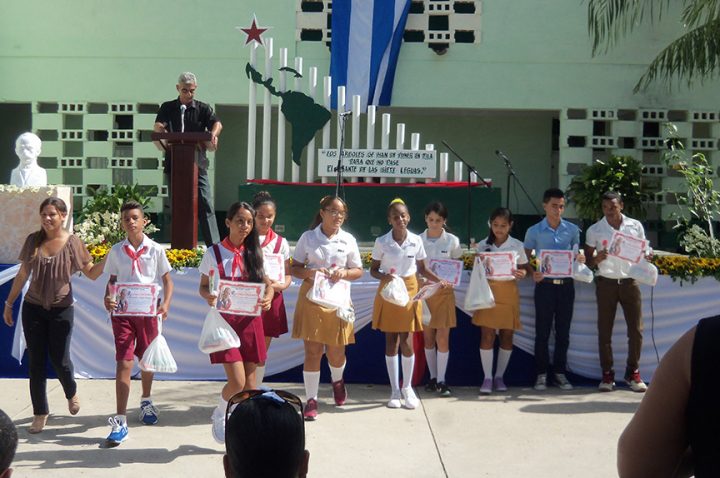
[[198, 155], [209, 146], [210, 133], [153, 133], [153, 141], [166, 144], [172, 161], [170, 172], [170, 209], [173, 249], [197, 247]]

